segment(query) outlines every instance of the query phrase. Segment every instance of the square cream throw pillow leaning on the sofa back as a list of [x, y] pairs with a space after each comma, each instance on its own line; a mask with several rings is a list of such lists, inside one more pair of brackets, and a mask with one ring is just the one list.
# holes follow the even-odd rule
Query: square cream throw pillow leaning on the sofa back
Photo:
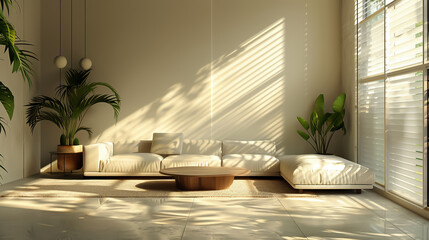
[[151, 153], [181, 154], [183, 147], [183, 133], [154, 133]]

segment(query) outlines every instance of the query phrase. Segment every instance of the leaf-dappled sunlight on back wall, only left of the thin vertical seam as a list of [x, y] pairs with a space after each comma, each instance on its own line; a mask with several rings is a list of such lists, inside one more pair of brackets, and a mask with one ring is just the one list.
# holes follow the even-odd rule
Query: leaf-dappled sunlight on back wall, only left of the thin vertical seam
[[190, 84], [172, 85], [162, 96], [119, 120], [93, 142], [152, 139], [154, 132], [183, 132], [186, 138], [210, 138], [210, 75], [207, 69], [208, 66], [203, 67]]

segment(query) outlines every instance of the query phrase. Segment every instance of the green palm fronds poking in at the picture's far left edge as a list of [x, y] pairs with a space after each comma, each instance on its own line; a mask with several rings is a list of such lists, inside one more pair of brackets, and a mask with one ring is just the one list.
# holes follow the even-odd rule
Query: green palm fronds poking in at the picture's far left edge
[[[9, 9], [13, 7], [14, 0], [0, 0], [0, 45], [4, 46], [4, 52], [9, 55], [9, 62], [12, 65], [12, 73], [20, 72], [24, 81], [26, 80], [31, 86], [30, 75], [32, 69], [30, 59], [36, 59], [33, 52], [23, 50], [20, 47], [30, 45], [22, 41], [17, 35], [13, 25], [7, 20], [6, 15], [9, 14]], [[37, 59], [36, 59], [37, 60]], [[10, 120], [12, 120], [14, 110], [14, 97], [10, 89], [0, 81], [0, 103]], [[6, 135], [5, 118], [0, 116], [0, 134]], [[3, 156], [0, 154], [0, 168], [6, 171], [1, 164]], [[7, 172], [7, 171], [6, 171]], [[1, 177], [1, 176], [0, 176]]]

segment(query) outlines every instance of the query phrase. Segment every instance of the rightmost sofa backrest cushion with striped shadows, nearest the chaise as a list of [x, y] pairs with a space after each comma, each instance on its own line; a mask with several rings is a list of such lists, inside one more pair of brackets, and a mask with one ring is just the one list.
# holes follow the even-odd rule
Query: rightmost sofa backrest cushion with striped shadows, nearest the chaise
[[222, 154], [266, 154], [276, 155], [276, 143], [270, 140], [262, 141], [223, 141]]

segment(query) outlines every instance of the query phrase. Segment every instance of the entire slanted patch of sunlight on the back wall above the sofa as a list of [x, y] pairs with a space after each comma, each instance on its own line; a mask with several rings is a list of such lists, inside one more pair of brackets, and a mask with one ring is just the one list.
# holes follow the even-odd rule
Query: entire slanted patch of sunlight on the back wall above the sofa
[[183, 132], [191, 139], [269, 139], [282, 146], [284, 25], [284, 19], [274, 22], [234, 51], [203, 66], [195, 81], [177, 82], [139, 110], [121, 113], [118, 123], [93, 142]]

